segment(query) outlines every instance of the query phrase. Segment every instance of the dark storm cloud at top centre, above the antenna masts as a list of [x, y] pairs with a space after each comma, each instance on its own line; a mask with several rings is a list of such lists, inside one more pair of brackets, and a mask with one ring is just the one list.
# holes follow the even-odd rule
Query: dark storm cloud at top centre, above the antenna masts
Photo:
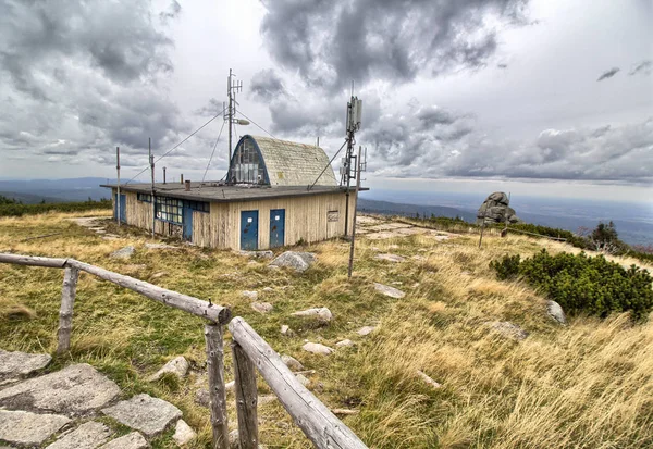
[[[483, 66], [505, 25], [525, 24], [528, 0], [263, 0], [272, 57], [305, 82], [412, 80]], [[490, 23], [502, 24], [491, 26]]]

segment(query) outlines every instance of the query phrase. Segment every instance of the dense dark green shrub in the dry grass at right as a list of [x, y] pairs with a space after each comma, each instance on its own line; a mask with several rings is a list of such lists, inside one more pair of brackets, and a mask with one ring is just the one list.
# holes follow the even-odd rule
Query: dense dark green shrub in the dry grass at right
[[551, 255], [542, 250], [522, 261], [518, 255], [506, 255], [490, 266], [500, 279], [520, 276], [570, 314], [605, 317], [612, 312], [631, 311], [636, 319], [642, 319], [653, 309], [653, 277], [649, 272], [636, 265], [624, 269], [603, 255]]

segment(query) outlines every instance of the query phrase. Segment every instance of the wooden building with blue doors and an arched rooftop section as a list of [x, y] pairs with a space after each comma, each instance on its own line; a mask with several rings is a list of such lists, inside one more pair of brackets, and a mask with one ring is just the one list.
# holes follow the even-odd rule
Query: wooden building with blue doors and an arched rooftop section
[[153, 199], [151, 184], [121, 185], [120, 211], [118, 186], [103, 187], [112, 189], [114, 217], [148, 230], [153, 224], [156, 234], [202, 247], [262, 250], [315, 242], [343, 236], [345, 220], [352, 229], [355, 195], [337, 185], [319, 147], [244, 136], [226, 179], [157, 183]]

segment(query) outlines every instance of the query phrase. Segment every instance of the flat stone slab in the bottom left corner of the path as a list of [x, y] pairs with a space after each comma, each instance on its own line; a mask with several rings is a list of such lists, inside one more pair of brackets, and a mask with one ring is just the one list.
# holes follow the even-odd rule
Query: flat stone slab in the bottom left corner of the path
[[0, 439], [11, 445], [41, 445], [70, 422], [59, 414], [0, 410]]

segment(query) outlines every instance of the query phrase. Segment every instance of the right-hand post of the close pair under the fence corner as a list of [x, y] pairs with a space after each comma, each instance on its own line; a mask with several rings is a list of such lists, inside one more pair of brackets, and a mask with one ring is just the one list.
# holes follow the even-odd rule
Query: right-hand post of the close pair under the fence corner
[[241, 345], [232, 344], [241, 449], [258, 449], [256, 367]]

